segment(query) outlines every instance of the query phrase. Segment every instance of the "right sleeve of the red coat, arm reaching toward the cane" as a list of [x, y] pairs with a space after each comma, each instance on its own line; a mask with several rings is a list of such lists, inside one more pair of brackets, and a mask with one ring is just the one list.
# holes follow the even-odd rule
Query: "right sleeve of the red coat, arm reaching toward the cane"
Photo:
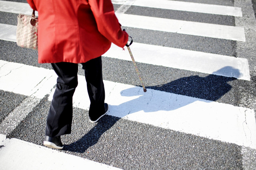
[[128, 34], [122, 31], [111, 0], [88, 0], [88, 3], [100, 33], [112, 43], [123, 48], [128, 41]]

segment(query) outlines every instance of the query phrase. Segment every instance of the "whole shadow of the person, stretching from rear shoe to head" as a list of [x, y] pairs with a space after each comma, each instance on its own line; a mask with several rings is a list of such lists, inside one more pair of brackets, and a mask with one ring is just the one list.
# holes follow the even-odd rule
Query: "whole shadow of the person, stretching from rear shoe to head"
[[[223, 69], [226, 70], [227, 68]], [[228, 69], [234, 68], [230, 67]], [[239, 70], [234, 69], [233, 72], [238, 74]], [[167, 84], [148, 86], [146, 93], [143, 92], [141, 87], [132, 87], [121, 92], [118, 89], [114, 90], [111, 94], [115, 96], [116, 100], [111, 105], [109, 104], [108, 115], [102, 117], [81, 139], [70, 145], [64, 145], [63, 150], [85, 152], [88, 147], [95, 145], [100, 136], [110, 129], [116, 121], [132, 113], [144, 114], [150, 112], [151, 114], [158, 111], [173, 111], [196, 101], [206, 103], [216, 101], [232, 89], [228, 82], [233, 80], [236, 80], [236, 78], [210, 74], [206, 77], [189, 76]], [[157, 114], [161, 116], [162, 113], [158, 112]], [[173, 112], [172, 114], [179, 115], [180, 112]], [[182, 114], [179, 116], [182, 116]], [[134, 117], [136, 119], [136, 115]]]

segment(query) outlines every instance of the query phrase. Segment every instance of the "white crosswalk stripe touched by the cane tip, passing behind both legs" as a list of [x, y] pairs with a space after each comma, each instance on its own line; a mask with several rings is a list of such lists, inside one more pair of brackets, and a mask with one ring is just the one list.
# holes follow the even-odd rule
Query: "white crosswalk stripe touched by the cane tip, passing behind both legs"
[[[26, 80], [26, 84], [30, 86], [30, 83], [34, 84], [35, 77], [30, 76], [33, 74], [29, 74], [29, 72], [35, 72], [43, 80], [44, 76], [40, 75], [47, 75], [49, 71], [24, 64], [6, 63], [5, 61], [1, 61], [1, 63], [1, 73], [6, 64], [9, 64], [8, 68], [22, 65], [22, 67], [19, 66], [22, 70], [15, 72], [15, 82], [13, 81], [14, 75], [11, 73], [0, 76], [0, 78], [5, 77], [4, 81], [0, 79], [0, 90], [5, 91], [9, 91], [9, 88], [2, 86], [2, 82], [17, 86], [19, 77], [27, 74], [29, 78]], [[85, 90], [84, 76], [78, 76], [78, 82], [73, 98], [74, 107], [88, 109], [90, 100]], [[49, 80], [47, 86], [52, 87], [55, 83]], [[21, 84], [25, 85], [23, 82]], [[110, 105], [109, 115], [256, 149], [256, 121], [252, 109], [158, 90], [148, 89], [144, 93], [140, 87], [110, 81], [104, 81], [104, 84], [106, 102]], [[28, 90], [18, 88], [15, 92], [24, 94], [24, 91]], [[44, 90], [45, 94], [50, 93], [49, 100], [51, 100], [54, 90], [50, 91], [49, 89]]]

